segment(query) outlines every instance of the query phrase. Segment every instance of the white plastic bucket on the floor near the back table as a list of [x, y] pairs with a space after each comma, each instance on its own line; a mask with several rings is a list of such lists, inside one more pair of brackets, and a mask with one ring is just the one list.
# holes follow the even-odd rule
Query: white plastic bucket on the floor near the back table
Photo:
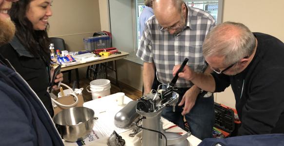
[[111, 81], [108, 79], [96, 79], [90, 82], [90, 90], [92, 99], [97, 99], [111, 94]]

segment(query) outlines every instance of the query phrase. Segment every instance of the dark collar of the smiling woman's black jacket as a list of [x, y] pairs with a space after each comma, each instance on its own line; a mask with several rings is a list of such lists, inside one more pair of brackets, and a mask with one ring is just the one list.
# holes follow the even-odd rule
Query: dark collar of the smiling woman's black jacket
[[11, 46], [16, 50], [19, 56], [34, 57], [30, 52], [28, 52], [22, 43], [19, 41], [18, 37], [14, 37], [11, 42]]

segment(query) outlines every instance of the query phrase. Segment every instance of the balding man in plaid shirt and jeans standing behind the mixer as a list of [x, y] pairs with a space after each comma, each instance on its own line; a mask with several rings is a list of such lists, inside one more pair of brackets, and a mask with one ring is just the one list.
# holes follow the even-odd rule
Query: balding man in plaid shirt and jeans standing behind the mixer
[[[146, 22], [136, 54], [144, 61], [144, 94], [151, 92], [155, 70], [158, 81], [167, 85], [173, 78], [172, 68], [185, 58], [189, 58], [187, 64], [194, 71], [211, 72], [202, 55], [202, 43], [215, 26], [214, 18], [203, 10], [189, 7], [183, 0], [153, 0], [153, 10], [155, 16]], [[174, 89], [179, 94], [178, 106], [175, 112], [172, 107], [166, 108], [162, 116], [183, 129], [185, 117], [194, 136], [211, 137], [213, 96], [204, 97], [197, 86], [182, 78], [177, 80]]]

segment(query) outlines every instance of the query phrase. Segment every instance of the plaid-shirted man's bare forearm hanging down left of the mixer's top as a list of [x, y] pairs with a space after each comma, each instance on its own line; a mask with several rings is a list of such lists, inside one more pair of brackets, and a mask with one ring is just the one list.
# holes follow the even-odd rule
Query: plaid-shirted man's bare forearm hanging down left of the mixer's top
[[150, 93], [151, 87], [154, 80], [155, 66], [154, 63], [144, 62], [143, 65], [143, 85], [144, 85], [144, 93]]

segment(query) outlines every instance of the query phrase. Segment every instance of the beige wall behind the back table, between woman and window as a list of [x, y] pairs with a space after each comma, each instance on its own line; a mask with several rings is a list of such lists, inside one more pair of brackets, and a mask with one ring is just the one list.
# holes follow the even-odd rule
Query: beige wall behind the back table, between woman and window
[[[101, 30], [98, 0], [53, 0], [52, 11], [48, 35], [63, 38], [68, 51], [84, 50], [83, 38]], [[79, 75], [85, 77], [86, 68]]]

